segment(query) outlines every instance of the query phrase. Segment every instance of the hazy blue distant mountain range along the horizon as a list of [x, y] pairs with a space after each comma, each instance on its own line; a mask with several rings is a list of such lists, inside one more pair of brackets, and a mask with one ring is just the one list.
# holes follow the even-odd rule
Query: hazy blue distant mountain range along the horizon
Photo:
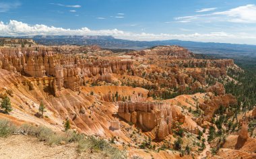
[[256, 58], [256, 45], [226, 44], [214, 42], [189, 42], [181, 40], [133, 41], [114, 38], [113, 36], [24, 36], [32, 38], [38, 44], [44, 45], [98, 45], [109, 49], [140, 50], [152, 46], [179, 45], [198, 54], [208, 54], [235, 60], [250, 60]]

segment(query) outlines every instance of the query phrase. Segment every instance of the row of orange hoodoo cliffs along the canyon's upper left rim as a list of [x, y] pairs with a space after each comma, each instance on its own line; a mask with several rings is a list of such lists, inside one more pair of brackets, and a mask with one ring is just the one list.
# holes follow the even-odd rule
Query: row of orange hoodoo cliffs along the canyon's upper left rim
[[[96, 49], [97, 50], [97, 49]], [[24, 76], [55, 77], [55, 94], [61, 89], [79, 91], [85, 78], [111, 82], [111, 74], [132, 68], [131, 60], [88, 60], [81, 56], [57, 54], [57, 48], [0, 48], [0, 66]]]

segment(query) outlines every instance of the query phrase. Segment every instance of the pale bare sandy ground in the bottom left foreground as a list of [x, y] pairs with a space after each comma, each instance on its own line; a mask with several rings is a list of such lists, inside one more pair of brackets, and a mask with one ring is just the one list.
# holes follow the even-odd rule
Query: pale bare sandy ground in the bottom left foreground
[[30, 136], [13, 135], [0, 138], [0, 158], [79, 158], [75, 145], [47, 146], [44, 142]]

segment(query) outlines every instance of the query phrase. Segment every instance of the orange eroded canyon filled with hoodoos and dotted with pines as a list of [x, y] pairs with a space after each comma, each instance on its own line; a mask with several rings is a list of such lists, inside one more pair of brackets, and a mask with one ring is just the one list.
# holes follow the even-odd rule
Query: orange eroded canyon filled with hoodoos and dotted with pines
[[[230, 70], [244, 71], [232, 59], [202, 58], [181, 46], [118, 53], [99, 46], [34, 42], [1, 46], [0, 98], [9, 97], [13, 110], [0, 118], [54, 131], [64, 131], [68, 120], [77, 133], [115, 138], [114, 145], [129, 158], [230, 157], [225, 151], [253, 158], [255, 138], [248, 135], [246, 122], [255, 119], [255, 109], [234, 117], [241, 130], [225, 136], [217, 153], [208, 150], [218, 147], [218, 141], [207, 141], [211, 127], [218, 129], [212, 120], [220, 120], [222, 109], [225, 117], [232, 117], [238, 105], [224, 87], [238, 83]], [[45, 105], [43, 117], [36, 115], [40, 103]], [[175, 147], [179, 138], [183, 149]]]

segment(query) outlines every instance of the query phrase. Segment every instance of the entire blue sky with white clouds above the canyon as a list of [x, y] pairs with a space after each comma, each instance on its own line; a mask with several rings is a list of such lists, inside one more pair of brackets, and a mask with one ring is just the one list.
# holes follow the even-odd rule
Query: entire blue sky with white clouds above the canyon
[[256, 0], [0, 0], [0, 36], [256, 45]]

